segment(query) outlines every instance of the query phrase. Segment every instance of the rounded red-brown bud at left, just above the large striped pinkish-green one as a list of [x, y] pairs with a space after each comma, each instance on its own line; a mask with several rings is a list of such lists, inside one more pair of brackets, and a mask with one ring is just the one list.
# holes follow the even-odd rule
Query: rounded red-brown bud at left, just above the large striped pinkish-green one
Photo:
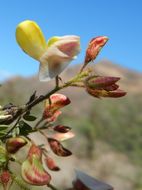
[[6, 150], [7, 152], [14, 154], [26, 144], [27, 141], [23, 137], [12, 137], [6, 141]]

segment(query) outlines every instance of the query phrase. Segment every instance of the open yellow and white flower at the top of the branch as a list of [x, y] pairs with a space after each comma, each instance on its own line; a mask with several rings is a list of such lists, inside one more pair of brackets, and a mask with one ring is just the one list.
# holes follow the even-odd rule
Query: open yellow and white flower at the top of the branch
[[30, 20], [17, 26], [16, 39], [25, 53], [40, 62], [41, 81], [48, 81], [59, 75], [80, 52], [78, 36], [54, 36], [46, 43], [39, 26]]

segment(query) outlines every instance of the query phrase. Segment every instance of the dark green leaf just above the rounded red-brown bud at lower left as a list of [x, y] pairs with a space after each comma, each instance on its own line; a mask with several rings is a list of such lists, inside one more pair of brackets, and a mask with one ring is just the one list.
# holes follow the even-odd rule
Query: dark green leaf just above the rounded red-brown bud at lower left
[[32, 132], [32, 127], [28, 123], [22, 120], [19, 122], [19, 130], [20, 130], [20, 135], [27, 136], [30, 132]]

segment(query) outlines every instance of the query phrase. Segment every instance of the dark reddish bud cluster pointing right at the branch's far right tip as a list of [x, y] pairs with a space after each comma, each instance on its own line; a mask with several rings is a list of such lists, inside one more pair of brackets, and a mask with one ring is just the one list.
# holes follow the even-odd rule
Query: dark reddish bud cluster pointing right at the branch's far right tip
[[126, 92], [119, 89], [116, 82], [119, 77], [88, 77], [85, 81], [87, 92], [97, 98], [112, 97], [119, 98], [126, 95]]

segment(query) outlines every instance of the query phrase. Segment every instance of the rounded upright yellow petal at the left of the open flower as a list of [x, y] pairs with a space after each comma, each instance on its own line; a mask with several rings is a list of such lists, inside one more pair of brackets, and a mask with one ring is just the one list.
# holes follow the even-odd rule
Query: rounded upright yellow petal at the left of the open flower
[[17, 26], [16, 40], [25, 53], [37, 60], [47, 48], [40, 27], [30, 20], [23, 21]]

